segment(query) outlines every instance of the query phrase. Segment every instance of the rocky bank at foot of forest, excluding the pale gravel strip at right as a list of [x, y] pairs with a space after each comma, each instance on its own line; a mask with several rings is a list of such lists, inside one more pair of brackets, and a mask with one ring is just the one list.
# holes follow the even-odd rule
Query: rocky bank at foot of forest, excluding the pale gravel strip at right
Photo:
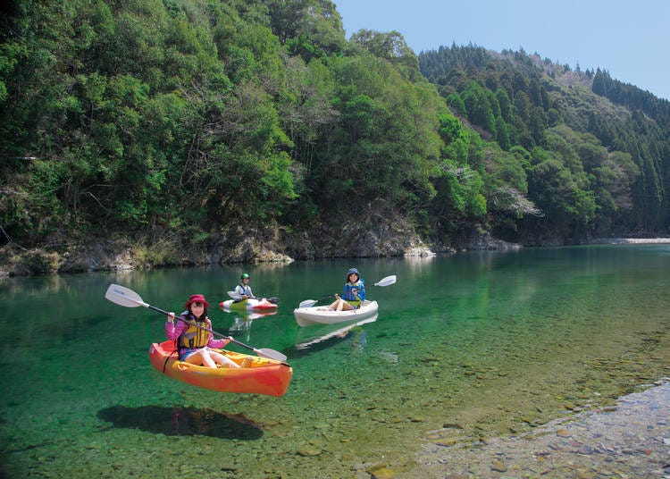
[[[403, 222], [398, 222], [403, 224]], [[343, 227], [347, 231], [347, 225]], [[328, 230], [325, 230], [328, 231]], [[161, 240], [142, 238], [88, 238], [62, 248], [0, 247], [0, 278], [58, 273], [152, 270], [206, 265], [275, 264], [319, 258], [371, 258], [452, 254], [448, 245], [426, 245], [414, 231], [402, 228], [378, 231], [349, 227], [354, 237], [323, 231], [294, 233], [275, 238], [269, 231], [233, 231], [207, 241], [179, 237]], [[519, 245], [496, 240], [488, 233], [473, 234], [464, 249], [510, 249]]]

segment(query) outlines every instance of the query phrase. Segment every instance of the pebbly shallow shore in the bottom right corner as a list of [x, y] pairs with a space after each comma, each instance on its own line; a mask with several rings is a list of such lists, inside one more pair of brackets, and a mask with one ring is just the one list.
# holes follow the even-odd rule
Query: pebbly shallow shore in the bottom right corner
[[670, 378], [618, 400], [616, 407], [568, 416], [519, 436], [484, 442], [440, 440], [406, 478], [670, 477]]

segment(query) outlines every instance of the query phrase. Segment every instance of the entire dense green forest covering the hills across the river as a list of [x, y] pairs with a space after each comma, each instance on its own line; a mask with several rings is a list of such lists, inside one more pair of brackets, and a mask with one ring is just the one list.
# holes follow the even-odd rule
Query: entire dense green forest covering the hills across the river
[[670, 104], [607, 71], [347, 39], [329, 0], [3, 8], [5, 250], [128, 240], [169, 245], [166, 264], [240, 234], [356, 256], [365, 231], [457, 246], [670, 226]]

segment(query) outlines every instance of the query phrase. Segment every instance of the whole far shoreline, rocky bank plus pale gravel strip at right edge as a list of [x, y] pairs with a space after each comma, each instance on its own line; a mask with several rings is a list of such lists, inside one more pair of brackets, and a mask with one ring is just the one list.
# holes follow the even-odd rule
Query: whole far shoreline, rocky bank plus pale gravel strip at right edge
[[[366, 245], [348, 252], [342, 248], [324, 247], [307, 241], [307, 245], [286, 248], [267, 237], [239, 235], [227, 242], [215, 241], [208, 248], [193, 249], [167, 241], [141, 246], [141, 241], [94, 240], [88, 245], [66, 248], [63, 251], [47, 251], [42, 248], [0, 248], [0, 278], [8, 276], [30, 276], [56, 273], [85, 273], [95, 271], [150, 270], [163, 267], [202, 265], [224, 265], [240, 263], [289, 264], [295, 259], [321, 257], [393, 257], [434, 256], [435, 253], [453, 254], [456, 250], [507, 250], [523, 248], [517, 243], [493, 238], [488, 233], [473, 234], [470, 240], [457, 247], [426, 245], [414, 235], [403, 236], [395, 231], [381, 241], [381, 235], [372, 235], [358, 245]], [[670, 238], [600, 238], [585, 244], [659, 244], [670, 243]], [[288, 250], [289, 254], [282, 253]]]

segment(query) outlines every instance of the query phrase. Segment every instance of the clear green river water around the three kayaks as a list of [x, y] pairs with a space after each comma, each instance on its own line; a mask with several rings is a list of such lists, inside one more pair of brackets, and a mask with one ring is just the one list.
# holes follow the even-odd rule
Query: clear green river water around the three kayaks
[[[379, 318], [298, 348], [329, 331], [299, 328], [293, 307], [338, 292], [352, 265]], [[215, 306], [241, 267], [2, 280], [0, 477], [353, 477], [372, 464], [402, 475], [443, 424], [522, 432], [668, 375], [670, 245], [245, 271], [256, 294], [281, 298], [278, 314]], [[389, 274], [395, 285], [372, 286]], [[159, 374], [147, 350], [163, 318], [105, 300], [112, 282], [173, 311], [204, 293], [216, 331], [289, 357], [288, 393]]]

